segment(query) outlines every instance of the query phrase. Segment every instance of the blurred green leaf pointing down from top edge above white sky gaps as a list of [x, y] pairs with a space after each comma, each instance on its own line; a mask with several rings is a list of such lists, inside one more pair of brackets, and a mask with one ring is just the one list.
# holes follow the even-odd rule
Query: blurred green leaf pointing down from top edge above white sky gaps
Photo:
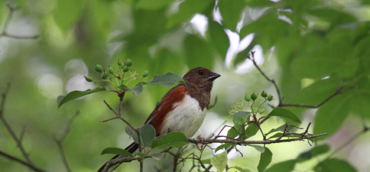
[[223, 26], [232, 31], [236, 30], [236, 25], [241, 19], [242, 10], [245, 7], [245, 0], [220, 0], [218, 3]]

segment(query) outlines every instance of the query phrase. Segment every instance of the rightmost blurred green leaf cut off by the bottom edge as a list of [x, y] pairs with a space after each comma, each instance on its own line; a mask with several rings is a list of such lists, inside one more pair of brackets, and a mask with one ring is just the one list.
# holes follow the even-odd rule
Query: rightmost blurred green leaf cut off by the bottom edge
[[338, 159], [327, 159], [320, 162], [315, 168], [315, 172], [357, 172], [346, 161]]

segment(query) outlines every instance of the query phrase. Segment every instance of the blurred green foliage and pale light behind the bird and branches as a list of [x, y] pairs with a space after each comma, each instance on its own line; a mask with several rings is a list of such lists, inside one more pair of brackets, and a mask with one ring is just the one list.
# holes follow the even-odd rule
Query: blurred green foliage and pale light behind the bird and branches
[[[8, 22], [7, 5], [19, 5]], [[369, 0], [0, 0], [0, 29], [7, 33], [0, 34], [0, 91], [11, 83], [4, 116], [17, 134], [25, 129], [23, 145], [38, 167], [64, 172], [52, 134], [61, 135], [80, 111], [62, 144], [72, 171], [94, 172], [111, 158], [100, 155], [104, 148], [124, 148], [132, 142], [123, 122], [99, 122], [113, 116], [103, 100], [117, 108], [114, 93], [88, 95], [57, 109], [58, 95], [95, 87], [83, 78], [100, 77], [94, 64], [116, 67], [117, 59], [132, 58], [135, 69], [148, 69], [145, 81], [169, 71], [183, 76], [198, 66], [220, 73], [211, 98], [213, 102], [217, 95], [218, 103], [196, 134], [206, 137], [224, 122], [232, 125], [228, 111], [245, 92], [265, 90], [277, 97], [271, 83], [246, 59], [255, 51], [257, 63], [277, 81], [285, 103], [317, 105], [342, 79], [344, 87], [356, 85], [318, 109], [290, 108], [301, 127], [313, 122], [310, 133], [328, 133], [314, 145], [328, 143], [329, 152], [296, 164], [296, 172], [313, 172], [318, 162], [370, 124], [369, 20]], [[124, 99], [123, 116], [134, 126], [145, 122], [170, 89], [144, 87], [139, 96], [127, 94]], [[270, 118], [262, 129], [284, 123]], [[251, 139], [262, 138], [257, 134]], [[370, 172], [369, 143], [370, 134], [362, 133], [333, 157], [358, 172]], [[271, 165], [311, 148], [307, 142], [267, 147], [273, 153]], [[228, 165], [257, 172], [260, 153], [252, 147], [238, 149], [243, 156], [229, 153]], [[0, 150], [22, 158], [2, 123]], [[211, 156], [211, 150], [203, 155]], [[146, 159], [145, 168], [149, 172], [166, 163]], [[132, 162], [117, 172], [138, 170], [139, 163]], [[0, 157], [0, 171], [29, 170]]]

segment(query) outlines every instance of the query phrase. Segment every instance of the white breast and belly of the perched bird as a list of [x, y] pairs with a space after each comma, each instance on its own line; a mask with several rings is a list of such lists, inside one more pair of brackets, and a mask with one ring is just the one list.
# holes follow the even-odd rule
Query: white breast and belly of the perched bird
[[180, 131], [186, 137], [193, 136], [203, 123], [207, 108], [202, 109], [196, 99], [185, 94], [184, 100], [173, 105], [174, 110], [169, 112], [164, 119], [160, 134], [168, 131]]

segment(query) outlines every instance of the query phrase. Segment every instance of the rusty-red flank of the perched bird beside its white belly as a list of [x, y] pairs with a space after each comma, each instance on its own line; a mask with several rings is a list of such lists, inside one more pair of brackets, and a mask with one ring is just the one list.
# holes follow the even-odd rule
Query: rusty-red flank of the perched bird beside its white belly
[[179, 84], [170, 89], [157, 104], [153, 112], [149, 115], [146, 124], [149, 123], [155, 128], [156, 135], [162, 129], [162, 122], [166, 117], [167, 113], [173, 110], [173, 105], [183, 100], [185, 96], [185, 86]]

